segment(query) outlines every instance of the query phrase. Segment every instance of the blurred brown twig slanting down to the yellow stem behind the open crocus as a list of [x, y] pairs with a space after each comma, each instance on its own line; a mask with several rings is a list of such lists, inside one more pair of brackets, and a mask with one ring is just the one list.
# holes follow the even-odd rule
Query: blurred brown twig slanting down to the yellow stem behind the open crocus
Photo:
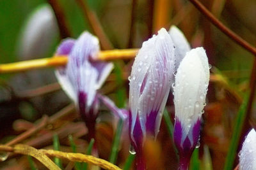
[[102, 25], [99, 22], [99, 19], [96, 13], [88, 7], [86, 1], [83, 0], [76, 0], [76, 2], [80, 5], [84, 17], [87, 18], [89, 21], [90, 27], [92, 27], [93, 33], [100, 39], [100, 43], [104, 50], [111, 50], [113, 49], [113, 45], [109, 41], [108, 37], [106, 36], [105, 32], [102, 29]]

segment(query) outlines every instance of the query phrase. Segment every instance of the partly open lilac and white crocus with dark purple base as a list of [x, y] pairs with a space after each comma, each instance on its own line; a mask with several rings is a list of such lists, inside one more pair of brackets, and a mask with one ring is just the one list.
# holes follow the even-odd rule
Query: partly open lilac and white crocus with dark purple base
[[95, 135], [95, 120], [98, 115], [97, 90], [113, 69], [109, 62], [93, 61], [99, 52], [99, 40], [89, 32], [77, 39], [65, 39], [56, 55], [68, 55], [67, 66], [58, 67], [56, 76], [61, 87], [76, 103], [88, 127], [89, 138]]

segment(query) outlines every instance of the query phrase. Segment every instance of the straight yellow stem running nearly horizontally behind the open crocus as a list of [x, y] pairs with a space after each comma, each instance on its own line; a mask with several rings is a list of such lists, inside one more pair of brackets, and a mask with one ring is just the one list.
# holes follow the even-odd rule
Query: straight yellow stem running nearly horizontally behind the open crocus
[[[97, 60], [116, 60], [116, 59], [132, 59], [138, 53], [137, 48], [123, 50], [106, 50], [98, 54]], [[51, 58], [25, 60], [13, 62], [10, 64], [0, 64], [0, 73], [12, 73], [18, 71], [27, 71], [30, 69], [39, 69], [51, 66], [64, 66], [68, 62], [66, 55], [58, 55]]]

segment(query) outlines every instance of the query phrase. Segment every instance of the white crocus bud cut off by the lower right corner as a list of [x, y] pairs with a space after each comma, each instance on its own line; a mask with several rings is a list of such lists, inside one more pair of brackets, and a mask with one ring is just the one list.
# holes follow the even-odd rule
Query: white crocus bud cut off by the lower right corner
[[239, 170], [253, 169], [256, 169], [256, 132], [254, 129], [246, 136], [239, 153]]

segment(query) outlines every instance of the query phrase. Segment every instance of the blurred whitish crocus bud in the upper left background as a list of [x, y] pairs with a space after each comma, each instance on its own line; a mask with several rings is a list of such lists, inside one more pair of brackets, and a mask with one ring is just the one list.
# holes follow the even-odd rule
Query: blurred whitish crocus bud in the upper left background
[[22, 27], [17, 46], [18, 56], [24, 60], [45, 57], [58, 35], [58, 25], [49, 4], [38, 6]]

